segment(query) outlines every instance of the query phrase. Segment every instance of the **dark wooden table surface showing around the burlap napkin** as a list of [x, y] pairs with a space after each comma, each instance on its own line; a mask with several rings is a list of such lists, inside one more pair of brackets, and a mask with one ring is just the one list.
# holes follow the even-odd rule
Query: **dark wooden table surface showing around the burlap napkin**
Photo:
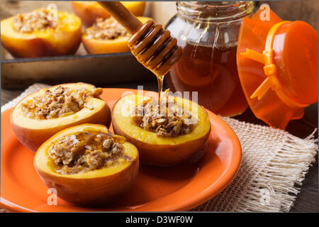
[[[127, 83], [127, 84], [114, 84], [108, 87], [122, 87], [136, 89], [138, 85], [143, 85], [145, 90], [157, 91], [156, 81], [147, 81], [139, 83]], [[21, 94], [23, 90], [6, 90], [1, 89], [1, 106], [6, 104], [11, 99]], [[241, 121], [247, 121], [250, 123], [257, 123], [260, 125], [266, 125], [264, 122], [257, 119], [250, 109], [244, 112], [240, 116], [235, 118]], [[315, 128], [318, 127], [318, 104], [313, 104], [306, 108], [305, 116], [301, 120], [291, 121], [286, 130], [289, 133], [298, 136], [299, 138], [306, 138], [312, 133]], [[315, 135], [318, 137], [318, 133]], [[319, 212], [318, 206], [318, 156], [316, 162], [306, 175], [301, 186], [301, 192], [296, 196], [296, 201], [291, 208], [292, 212]]]

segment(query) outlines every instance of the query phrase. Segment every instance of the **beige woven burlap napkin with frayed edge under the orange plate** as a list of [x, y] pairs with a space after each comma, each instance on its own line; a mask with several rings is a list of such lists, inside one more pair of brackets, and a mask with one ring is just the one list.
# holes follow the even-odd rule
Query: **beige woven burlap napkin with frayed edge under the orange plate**
[[[47, 87], [33, 84], [1, 107], [15, 106], [27, 94]], [[223, 117], [242, 145], [237, 177], [218, 196], [192, 211], [289, 211], [309, 166], [315, 161], [318, 140]]]

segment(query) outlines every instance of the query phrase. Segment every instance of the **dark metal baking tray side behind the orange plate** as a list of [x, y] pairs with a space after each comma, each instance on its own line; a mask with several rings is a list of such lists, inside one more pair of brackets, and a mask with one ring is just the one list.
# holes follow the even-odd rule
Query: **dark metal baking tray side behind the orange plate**
[[23, 89], [35, 82], [88, 82], [99, 86], [152, 79], [130, 52], [1, 60], [1, 87]]

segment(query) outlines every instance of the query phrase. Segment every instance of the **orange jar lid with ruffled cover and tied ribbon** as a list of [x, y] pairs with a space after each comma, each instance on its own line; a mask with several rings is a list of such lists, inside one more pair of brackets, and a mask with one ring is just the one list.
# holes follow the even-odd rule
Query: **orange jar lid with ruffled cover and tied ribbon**
[[240, 27], [237, 70], [257, 118], [286, 128], [318, 101], [318, 33], [303, 21], [282, 21], [259, 9]]

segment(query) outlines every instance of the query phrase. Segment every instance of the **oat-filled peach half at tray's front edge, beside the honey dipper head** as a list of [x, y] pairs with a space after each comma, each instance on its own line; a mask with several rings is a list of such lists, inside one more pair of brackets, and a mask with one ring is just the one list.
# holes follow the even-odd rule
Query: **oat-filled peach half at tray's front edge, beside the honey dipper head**
[[[138, 19], [146, 23], [151, 18], [138, 16]], [[97, 18], [94, 25], [84, 31], [82, 43], [90, 54], [128, 52], [128, 38], [128, 32], [113, 17]]]

